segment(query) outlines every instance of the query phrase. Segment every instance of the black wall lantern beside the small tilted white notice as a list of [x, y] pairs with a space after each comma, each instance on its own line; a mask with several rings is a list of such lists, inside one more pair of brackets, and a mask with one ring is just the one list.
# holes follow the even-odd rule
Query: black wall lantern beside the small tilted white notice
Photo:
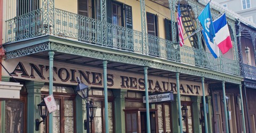
[[38, 106], [39, 114], [43, 120], [39, 121], [39, 119], [36, 119], [36, 131], [39, 130], [40, 123], [42, 123], [42, 122], [43, 122], [43, 124], [45, 123], [45, 119], [47, 118], [47, 115], [49, 114], [49, 111], [44, 102], [44, 99], [42, 99], [42, 100], [43, 101], [40, 104], [37, 104], [37, 106]]

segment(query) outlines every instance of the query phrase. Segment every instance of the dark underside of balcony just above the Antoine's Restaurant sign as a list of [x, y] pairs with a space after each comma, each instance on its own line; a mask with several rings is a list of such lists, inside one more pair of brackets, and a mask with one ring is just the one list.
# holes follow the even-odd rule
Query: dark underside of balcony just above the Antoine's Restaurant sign
[[[48, 52], [40, 52], [40, 53], [30, 54], [30, 57], [46, 59], [46, 60], [49, 59]], [[55, 52], [53, 62], [54, 61], [61, 61], [61, 62], [69, 63], [69, 64], [77, 64], [77, 65], [82, 65], [82, 66], [103, 68], [103, 64], [102, 64], [103, 60], [88, 58], [88, 57], [81, 57], [81, 56], [76, 56], [73, 54], [66, 54], [66, 53], [60, 53], [60, 52]], [[111, 69], [113, 71], [120, 71], [120, 72], [137, 73], [137, 74], [144, 75], [143, 67], [144, 66], [124, 64], [122, 62], [113, 62], [113, 61], [107, 62], [107, 69]], [[160, 77], [167, 77], [167, 78], [169, 76], [170, 79], [176, 79], [175, 72], [164, 71], [161, 69], [149, 68], [148, 74], [151, 76], [160, 76]], [[199, 77], [199, 76], [182, 74], [182, 73], [180, 74], [180, 79], [186, 80], [186, 81], [201, 82], [201, 77]], [[206, 82], [215, 83], [215, 82], [221, 82], [221, 81], [216, 81], [213, 79], [205, 78], [205, 83]]]

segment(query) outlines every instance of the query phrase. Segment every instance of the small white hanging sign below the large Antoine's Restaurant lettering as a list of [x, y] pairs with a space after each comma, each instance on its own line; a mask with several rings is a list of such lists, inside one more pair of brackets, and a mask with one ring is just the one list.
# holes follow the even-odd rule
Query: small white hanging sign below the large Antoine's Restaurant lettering
[[[158, 103], [161, 101], [171, 101], [173, 100], [173, 92], [169, 93], [159, 93], [149, 96], [149, 103]], [[146, 103], [146, 97], [143, 96], [143, 103]]]

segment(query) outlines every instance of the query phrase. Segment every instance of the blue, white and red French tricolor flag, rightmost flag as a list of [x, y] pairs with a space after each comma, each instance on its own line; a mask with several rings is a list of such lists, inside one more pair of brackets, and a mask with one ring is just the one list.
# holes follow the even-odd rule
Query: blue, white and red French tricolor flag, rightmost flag
[[215, 30], [214, 44], [218, 45], [220, 51], [224, 54], [232, 48], [226, 14], [224, 13], [221, 17], [216, 19], [213, 22], [213, 26]]

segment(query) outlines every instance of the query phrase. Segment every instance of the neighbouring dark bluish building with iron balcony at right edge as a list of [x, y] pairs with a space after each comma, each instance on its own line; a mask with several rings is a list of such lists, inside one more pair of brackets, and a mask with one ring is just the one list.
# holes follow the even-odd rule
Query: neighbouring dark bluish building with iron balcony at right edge
[[244, 77], [244, 107], [247, 132], [255, 132], [255, 26], [248, 24], [246, 21], [239, 21], [237, 25], [239, 51], [241, 51], [242, 76]]

